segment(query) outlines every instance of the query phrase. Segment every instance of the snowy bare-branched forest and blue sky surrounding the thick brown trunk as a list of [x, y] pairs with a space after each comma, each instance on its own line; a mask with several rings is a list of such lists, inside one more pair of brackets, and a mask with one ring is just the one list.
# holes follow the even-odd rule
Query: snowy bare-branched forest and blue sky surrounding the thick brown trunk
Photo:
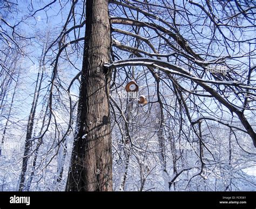
[[[0, 0], [1, 191], [65, 190], [85, 3]], [[108, 8], [113, 190], [256, 191], [255, 1]]]

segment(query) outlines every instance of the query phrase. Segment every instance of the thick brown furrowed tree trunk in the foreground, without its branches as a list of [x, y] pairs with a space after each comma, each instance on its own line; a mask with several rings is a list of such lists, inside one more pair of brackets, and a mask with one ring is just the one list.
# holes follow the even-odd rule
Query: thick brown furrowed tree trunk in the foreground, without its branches
[[111, 72], [107, 0], [86, 1], [86, 30], [75, 140], [66, 191], [111, 191]]

